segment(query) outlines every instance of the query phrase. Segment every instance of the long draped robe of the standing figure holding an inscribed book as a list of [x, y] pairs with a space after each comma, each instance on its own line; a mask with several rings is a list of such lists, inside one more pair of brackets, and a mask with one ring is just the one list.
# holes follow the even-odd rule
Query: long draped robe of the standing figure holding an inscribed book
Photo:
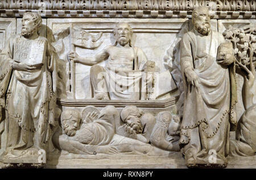
[[[13, 70], [9, 64], [16, 57], [27, 56], [36, 47], [15, 50], [18, 39], [28, 44], [46, 43], [46, 54], [42, 56], [43, 65], [32, 72]], [[19, 55], [17, 54], [19, 53]], [[26, 54], [27, 53], [27, 54]], [[33, 57], [32, 57], [33, 58]], [[33, 61], [33, 59], [32, 59]], [[21, 35], [11, 37], [0, 55], [1, 63], [1, 106], [6, 108], [7, 148], [27, 149], [34, 145], [40, 136], [39, 144], [47, 141], [49, 124], [55, 125], [56, 104], [56, 60], [46, 38], [28, 40]], [[6, 97], [6, 99], [5, 99]], [[38, 133], [34, 133], [38, 132]], [[37, 135], [40, 134], [40, 135]]]

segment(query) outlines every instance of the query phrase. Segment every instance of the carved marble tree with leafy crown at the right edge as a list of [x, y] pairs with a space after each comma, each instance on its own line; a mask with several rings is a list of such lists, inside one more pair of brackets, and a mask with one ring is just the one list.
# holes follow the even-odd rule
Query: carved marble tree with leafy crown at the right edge
[[[233, 44], [233, 53], [236, 57], [236, 67], [238, 73], [243, 78], [242, 98], [245, 109], [253, 105], [255, 89], [255, 62], [256, 62], [256, 28], [251, 24], [242, 29], [229, 26], [223, 32], [225, 39]], [[253, 93], [254, 91], [254, 93]]]

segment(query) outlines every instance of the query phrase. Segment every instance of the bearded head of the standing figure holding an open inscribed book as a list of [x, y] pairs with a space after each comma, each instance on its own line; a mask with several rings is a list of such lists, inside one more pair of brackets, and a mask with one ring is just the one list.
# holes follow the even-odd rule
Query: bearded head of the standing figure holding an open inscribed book
[[42, 27], [42, 18], [35, 12], [26, 12], [22, 18], [22, 36], [30, 37], [39, 34]]

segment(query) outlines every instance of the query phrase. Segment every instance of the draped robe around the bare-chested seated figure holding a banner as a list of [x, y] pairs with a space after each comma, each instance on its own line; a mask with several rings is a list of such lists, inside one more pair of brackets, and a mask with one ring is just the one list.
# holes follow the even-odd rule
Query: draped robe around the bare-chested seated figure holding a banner
[[[134, 61], [117, 62], [109, 56], [105, 61], [105, 68], [93, 66], [90, 79], [94, 95], [108, 93], [110, 99], [140, 99], [140, 83], [143, 64], [147, 61], [144, 52], [133, 48]], [[100, 76], [102, 74], [102, 76]]]

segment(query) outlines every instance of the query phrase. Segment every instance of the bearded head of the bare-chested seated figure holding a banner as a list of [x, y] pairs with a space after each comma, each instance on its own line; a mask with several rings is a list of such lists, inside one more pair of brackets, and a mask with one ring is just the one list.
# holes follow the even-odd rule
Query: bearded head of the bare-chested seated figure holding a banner
[[118, 23], [114, 28], [115, 45], [125, 46], [129, 44], [131, 47], [131, 38], [133, 37], [133, 29], [128, 23]]

